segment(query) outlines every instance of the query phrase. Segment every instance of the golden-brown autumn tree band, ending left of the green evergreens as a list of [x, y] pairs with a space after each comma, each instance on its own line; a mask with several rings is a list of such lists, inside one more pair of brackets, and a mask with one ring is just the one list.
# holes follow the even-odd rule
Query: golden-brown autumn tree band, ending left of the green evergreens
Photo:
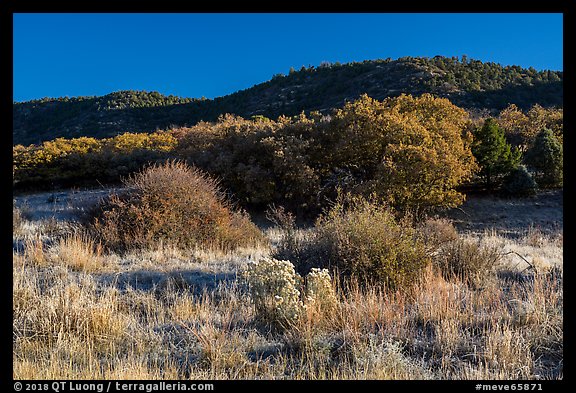
[[330, 116], [222, 116], [171, 133], [56, 139], [14, 147], [17, 185], [111, 180], [147, 161], [180, 158], [205, 169], [243, 204], [318, 208], [338, 190], [376, 194], [398, 209], [455, 206], [475, 161], [468, 115], [446, 99], [363, 96]]

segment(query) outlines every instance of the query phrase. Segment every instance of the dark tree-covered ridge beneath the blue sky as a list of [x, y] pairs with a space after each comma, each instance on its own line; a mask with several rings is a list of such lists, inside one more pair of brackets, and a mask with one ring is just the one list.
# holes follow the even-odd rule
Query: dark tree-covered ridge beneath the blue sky
[[456, 57], [405, 57], [291, 69], [249, 89], [213, 100], [120, 91], [101, 97], [17, 102], [13, 143], [56, 137], [110, 137], [214, 121], [223, 113], [276, 118], [301, 111], [326, 112], [367, 93], [376, 99], [424, 92], [449, 98], [463, 108], [496, 111], [509, 103], [562, 106], [563, 72], [536, 71]]

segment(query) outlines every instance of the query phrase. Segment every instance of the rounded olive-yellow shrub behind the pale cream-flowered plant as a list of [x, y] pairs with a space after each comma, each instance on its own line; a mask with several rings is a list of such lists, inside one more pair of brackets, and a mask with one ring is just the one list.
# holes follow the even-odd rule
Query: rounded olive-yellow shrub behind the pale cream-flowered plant
[[321, 216], [300, 253], [301, 264], [336, 270], [343, 277], [407, 287], [430, 261], [408, 218], [361, 197], [338, 201]]

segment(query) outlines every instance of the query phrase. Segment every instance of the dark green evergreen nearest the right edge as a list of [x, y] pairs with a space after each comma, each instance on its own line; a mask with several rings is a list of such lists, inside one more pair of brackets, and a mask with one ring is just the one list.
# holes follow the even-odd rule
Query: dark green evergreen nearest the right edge
[[526, 163], [536, 170], [540, 186], [561, 186], [563, 182], [563, 147], [554, 133], [545, 128], [536, 135], [526, 152]]

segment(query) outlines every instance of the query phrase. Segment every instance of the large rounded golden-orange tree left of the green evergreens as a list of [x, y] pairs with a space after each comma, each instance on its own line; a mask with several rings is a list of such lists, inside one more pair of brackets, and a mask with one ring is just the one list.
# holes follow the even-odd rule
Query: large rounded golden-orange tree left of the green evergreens
[[384, 101], [363, 95], [336, 111], [318, 139], [325, 169], [354, 178], [354, 191], [376, 193], [400, 211], [454, 207], [455, 188], [477, 169], [463, 138], [468, 114], [430, 94]]

